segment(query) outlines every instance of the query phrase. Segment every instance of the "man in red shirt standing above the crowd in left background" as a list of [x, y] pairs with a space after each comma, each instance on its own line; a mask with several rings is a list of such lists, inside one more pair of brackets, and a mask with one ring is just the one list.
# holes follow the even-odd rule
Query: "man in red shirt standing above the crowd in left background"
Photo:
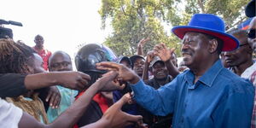
[[48, 49], [44, 49], [44, 38], [41, 35], [37, 35], [34, 39], [34, 42], [36, 45], [33, 47], [33, 49], [35, 49], [38, 55], [43, 58], [44, 70], [48, 71], [48, 60], [51, 52]]

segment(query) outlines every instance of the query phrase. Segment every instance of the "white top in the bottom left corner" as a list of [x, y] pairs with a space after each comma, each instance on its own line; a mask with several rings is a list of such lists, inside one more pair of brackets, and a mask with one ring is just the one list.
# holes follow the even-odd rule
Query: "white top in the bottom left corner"
[[18, 128], [22, 116], [22, 110], [14, 104], [5, 102], [0, 98], [0, 127]]

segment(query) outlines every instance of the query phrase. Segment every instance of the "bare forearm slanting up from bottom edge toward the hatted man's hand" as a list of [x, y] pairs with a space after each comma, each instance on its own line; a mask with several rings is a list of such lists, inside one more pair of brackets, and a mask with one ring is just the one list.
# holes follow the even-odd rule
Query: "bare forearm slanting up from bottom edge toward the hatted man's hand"
[[50, 127], [72, 127], [84, 114], [84, 111], [90, 104], [93, 96], [96, 95], [98, 91], [96, 87], [96, 84], [90, 86], [90, 88], [86, 90], [84, 94], [80, 96], [79, 99], [76, 100], [70, 108], [67, 108], [64, 113], [61, 113], [61, 115], [57, 119], [55, 119], [52, 124], [50, 124]]

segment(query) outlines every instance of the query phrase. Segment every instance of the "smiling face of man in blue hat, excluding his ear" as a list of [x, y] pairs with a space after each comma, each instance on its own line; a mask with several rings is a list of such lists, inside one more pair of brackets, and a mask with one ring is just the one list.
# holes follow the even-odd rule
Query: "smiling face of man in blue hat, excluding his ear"
[[187, 32], [183, 38], [182, 54], [184, 65], [190, 69], [197, 68], [206, 60], [208, 38], [198, 32]]

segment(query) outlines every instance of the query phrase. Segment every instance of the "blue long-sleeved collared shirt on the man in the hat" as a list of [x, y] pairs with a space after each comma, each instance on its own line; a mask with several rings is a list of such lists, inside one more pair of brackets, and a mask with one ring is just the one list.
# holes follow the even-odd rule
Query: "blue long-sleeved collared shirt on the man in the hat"
[[142, 80], [131, 85], [134, 98], [157, 115], [174, 113], [173, 127], [211, 128], [250, 126], [254, 88], [221, 61], [216, 61], [194, 84], [195, 74], [185, 71], [171, 83], [154, 90]]

